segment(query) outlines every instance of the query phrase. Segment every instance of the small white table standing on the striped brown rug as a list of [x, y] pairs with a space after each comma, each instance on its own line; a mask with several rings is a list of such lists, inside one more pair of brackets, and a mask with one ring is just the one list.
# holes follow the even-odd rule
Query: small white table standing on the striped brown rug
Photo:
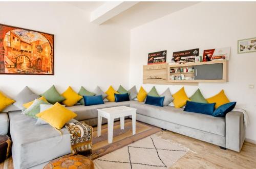
[[101, 123], [102, 117], [108, 119], [108, 142], [113, 141], [113, 127], [114, 127], [114, 118], [120, 118], [120, 128], [124, 129], [124, 117], [132, 115], [133, 119], [133, 135], [136, 134], [136, 110], [132, 107], [118, 106], [97, 109], [98, 111], [98, 137], [101, 135]]

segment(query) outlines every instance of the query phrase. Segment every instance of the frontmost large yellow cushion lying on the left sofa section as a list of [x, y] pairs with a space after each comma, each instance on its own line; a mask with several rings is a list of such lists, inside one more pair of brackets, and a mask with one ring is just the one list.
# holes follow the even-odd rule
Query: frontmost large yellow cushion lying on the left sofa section
[[77, 116], [77, 114], [57, 102], [51, 108], [36, 114], [36, 116], [45, 120], [52, 127], [61, 129], [69, 120]]

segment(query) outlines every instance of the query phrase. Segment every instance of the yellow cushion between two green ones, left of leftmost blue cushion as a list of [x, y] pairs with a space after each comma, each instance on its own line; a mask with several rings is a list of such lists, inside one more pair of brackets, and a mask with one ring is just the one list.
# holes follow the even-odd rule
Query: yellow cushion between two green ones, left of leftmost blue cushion
[[66, 100], [62, 103], [66, 106], [74, 106], [79, 100], [82, 99], [82, 96], [77, 94], [70, 86], [69, 88], [61, 94]]

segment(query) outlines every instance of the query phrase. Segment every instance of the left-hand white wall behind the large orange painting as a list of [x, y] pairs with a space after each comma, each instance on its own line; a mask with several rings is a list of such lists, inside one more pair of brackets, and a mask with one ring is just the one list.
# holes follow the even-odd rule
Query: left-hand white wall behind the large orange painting
[[94, 90], [129, 85], [130, 30], [90, 23], [90, 13], [67, 3], [0, 3], [0, 23], [54, 34], [54, 76], [0, 75], [14, 96], [26, 85], [40, 94], [55, 84]]

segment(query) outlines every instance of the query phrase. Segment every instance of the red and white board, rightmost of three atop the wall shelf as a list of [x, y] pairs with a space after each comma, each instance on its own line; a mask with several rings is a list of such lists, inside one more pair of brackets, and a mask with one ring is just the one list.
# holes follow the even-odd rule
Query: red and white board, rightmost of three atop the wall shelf
[[214, 60], [229, 60], [230, 47], [223, 47], [219, 49], [204, 50], [203, 62]]

